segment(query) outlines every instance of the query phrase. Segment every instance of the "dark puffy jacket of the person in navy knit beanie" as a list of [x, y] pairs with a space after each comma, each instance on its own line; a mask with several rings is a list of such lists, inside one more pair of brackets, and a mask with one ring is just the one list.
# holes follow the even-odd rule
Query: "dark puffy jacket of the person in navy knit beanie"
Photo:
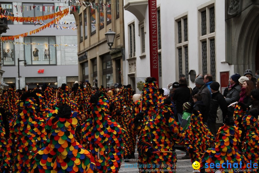
[[[228, 90], [228, 94], [226, 95], [226, 102], [228, 105], [230, 105], [231, 103], [234, 103], [236, 101], [239, 101], [240, 96], [239, 93], [241, 91], [241, 86], [239, 84], [235, 84], [231, 90]], [[229, 115], [233, 115], [234, 113], [234, 108], [232, 108], [232, 106], [228, 107], [228, 111], [229, 111]]]

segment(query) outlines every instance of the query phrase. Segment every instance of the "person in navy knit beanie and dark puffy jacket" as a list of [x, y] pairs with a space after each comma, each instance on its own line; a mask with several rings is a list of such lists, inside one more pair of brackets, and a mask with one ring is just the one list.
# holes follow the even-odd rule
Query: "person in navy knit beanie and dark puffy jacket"
[[[239, 100], [240, 96], [239, 93], [241, 91], [241, 86], [239, 85], [239, 78], [240, 74], [235, 73], [230, 77], [230, 85], [228, 87], [228, 93], [226, 95], [226, 102], [227, 104], [234, 103]], [[233, 116], [234, 108], [232, 106], [228, 107], [228, 115]]]

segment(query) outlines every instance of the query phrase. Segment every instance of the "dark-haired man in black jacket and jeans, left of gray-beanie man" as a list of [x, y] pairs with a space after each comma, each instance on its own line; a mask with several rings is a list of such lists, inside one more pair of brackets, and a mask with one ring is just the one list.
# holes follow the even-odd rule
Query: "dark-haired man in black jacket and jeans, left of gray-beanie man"
[[[174, 87], [174, 85], [173, 85]], [[187, 86], [186, 78], [181, 77], [179, 79], [178, 88], [175, 89], [173, 100], [176, 102], [176, 111], [178, 116], [178, 122], [182, 124], [182, 105], [190, 98], [191, 92]]]

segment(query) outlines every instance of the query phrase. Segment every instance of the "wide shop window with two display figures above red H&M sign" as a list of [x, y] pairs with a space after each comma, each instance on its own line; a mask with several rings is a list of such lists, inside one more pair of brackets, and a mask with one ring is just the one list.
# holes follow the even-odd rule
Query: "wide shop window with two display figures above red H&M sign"
[[24, 37], [24, 56], [27, 65], [56, 64], [56, 37]]

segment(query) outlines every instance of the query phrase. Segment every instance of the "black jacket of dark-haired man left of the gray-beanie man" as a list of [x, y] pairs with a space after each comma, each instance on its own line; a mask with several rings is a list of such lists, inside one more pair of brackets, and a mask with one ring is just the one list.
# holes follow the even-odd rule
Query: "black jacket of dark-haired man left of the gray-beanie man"
[[190, 95], [190, 89], [186, 84], [179, 84], [179, 87], [175, 89], [173, 100], [176, 102], [177, 113], [182, 114], [182, 105], [189, 101]]

